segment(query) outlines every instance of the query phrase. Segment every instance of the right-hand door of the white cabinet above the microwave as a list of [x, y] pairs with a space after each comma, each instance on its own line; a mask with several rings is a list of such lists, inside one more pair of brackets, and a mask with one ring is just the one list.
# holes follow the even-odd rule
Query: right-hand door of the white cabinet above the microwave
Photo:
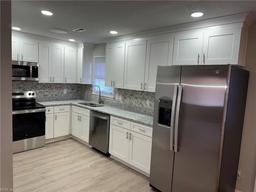
[[38, 63], [38, 41], [29, 38], [20, 38], [20, 61]]

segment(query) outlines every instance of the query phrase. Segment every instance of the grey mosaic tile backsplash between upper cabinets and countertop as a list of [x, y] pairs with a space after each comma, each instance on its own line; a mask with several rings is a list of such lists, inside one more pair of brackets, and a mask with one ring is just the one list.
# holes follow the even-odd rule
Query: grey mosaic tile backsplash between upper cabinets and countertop
[[[12, 91], [36, 91], [36, 101], [55, 101], [55, 100], [74, 100], [83, 99], [98, 102], [98, 98], [92, 97], [89, 92], [92, 85], [81, 84], [51, 84], [38, 83], [34, 81], [12, 81]], [[64, 94], [64, 89], [67, 93]], [[122, 96], [122, 100], [116, 100], [116, 94]], [[103, 104], [117, 106], [124, 110], [132, 110], [141, 114], [153, 115], [154, 112], [154, 96], [152, 92], [142, 92], [127, 89], [115, 89], [114, 100], [102, 99]], [[146, 100], [149, 105], [146, 105]]]

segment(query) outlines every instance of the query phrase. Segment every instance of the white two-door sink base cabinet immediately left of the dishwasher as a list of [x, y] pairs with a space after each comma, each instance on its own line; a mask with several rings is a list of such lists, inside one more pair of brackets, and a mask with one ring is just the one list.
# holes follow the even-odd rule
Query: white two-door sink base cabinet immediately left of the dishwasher
[[85, 142], [89, 142], [90, 110], [72, 106], [71, 134]]

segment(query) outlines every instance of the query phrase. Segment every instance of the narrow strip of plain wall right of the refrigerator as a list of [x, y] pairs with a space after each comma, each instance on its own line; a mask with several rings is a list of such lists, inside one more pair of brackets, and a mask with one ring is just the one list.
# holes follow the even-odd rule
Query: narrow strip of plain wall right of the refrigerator
[[245, 70], [250, 71], [236, 189], [252, 192], [256, 174], [256, 22], [249, 31]]

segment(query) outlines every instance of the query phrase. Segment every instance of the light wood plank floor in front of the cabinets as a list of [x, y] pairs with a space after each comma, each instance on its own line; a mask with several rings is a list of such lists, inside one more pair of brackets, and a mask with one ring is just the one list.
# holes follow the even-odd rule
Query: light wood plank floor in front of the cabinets
[[72, 139], [13, 154], [16, 192], [155, 192], [149, 178]]

